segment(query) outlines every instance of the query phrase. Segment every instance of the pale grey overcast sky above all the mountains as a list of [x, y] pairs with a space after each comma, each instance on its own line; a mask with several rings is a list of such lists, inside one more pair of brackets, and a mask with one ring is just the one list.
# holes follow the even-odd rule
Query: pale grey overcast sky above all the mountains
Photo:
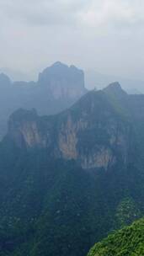
[[55, 61], [144, 79], [144, 1], [0, 0], [0, 67]]

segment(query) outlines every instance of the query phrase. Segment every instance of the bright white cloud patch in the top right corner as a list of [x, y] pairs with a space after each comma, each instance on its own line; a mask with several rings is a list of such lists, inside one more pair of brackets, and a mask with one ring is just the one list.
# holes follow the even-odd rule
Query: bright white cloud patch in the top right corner
[[83, 24], [89, 27], [108, 28], [120, 24], [125, 26], [144, 22], [144, 2], [141, 0], [101, 0], [90, 1], [88, 8], [79, 15]]

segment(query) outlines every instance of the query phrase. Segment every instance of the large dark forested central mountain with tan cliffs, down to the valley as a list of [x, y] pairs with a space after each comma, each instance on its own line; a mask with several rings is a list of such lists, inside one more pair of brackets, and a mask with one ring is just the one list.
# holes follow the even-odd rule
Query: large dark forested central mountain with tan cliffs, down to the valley
[[144, 214], [144, 95], [119, 83], [58, 115], [19, 109], [0, 144], [2, 255], [83, 256]]

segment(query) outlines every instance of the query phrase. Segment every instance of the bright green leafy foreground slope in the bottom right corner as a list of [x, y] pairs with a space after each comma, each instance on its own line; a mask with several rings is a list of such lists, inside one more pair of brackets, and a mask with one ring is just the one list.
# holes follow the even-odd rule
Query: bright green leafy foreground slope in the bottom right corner
[[101, 243], [97, 243], [88, 253], [88, 256], [111, 255], [144, 255], [144, 219], [109, 235]]

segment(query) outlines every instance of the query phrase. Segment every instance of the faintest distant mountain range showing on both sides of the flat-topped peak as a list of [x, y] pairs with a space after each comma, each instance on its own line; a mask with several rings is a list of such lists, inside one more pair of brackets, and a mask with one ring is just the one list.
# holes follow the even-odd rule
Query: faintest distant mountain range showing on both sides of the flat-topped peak
[[[15, 71], [9, 68], [0, 68], [0, 73], [5, 73], [10, 79], [14, 81], [31, 81], [37, 80], [37, 72], [20, 72]], [[120, 77], [117, 75], [108, 75], [104, 73], [100, 73], [94, 70], [85, 70], [85, 87], [88, 90], [92, 90], [93, 88], [104, 88], [109, 83], [114, 83], [115, 81], [119, 81], [122, 88], [125, 89], [127, 93], [130, 94], [140, 94], [144, 93], [144, 81], [141, 79], [132, 79], [131, 77]]]

